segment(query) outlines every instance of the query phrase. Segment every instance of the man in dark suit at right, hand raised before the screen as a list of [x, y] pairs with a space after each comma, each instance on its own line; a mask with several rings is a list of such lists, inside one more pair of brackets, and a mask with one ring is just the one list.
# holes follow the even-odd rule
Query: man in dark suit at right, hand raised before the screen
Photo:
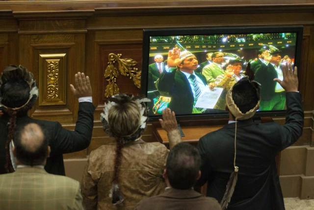
[[303, 110], [298, 93], [297, 69], [283, 69], [284, 79], [275, 79], [286, 90], [285, 125], [256, 123], [261, 101], [260, 85], [254, 73], [239, 80], [226, 95], [229, 123], [202, 137], [198, 149], [202, 157], [202, 177], [208, 181], [207, 195], [228, 210], [284, 210], [284, 200], [275, 157], [302, 135]]

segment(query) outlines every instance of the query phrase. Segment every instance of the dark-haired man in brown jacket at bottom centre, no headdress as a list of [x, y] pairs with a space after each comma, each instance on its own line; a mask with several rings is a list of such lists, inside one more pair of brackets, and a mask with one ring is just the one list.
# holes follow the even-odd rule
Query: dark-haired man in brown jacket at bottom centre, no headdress
[[221, 210], [214, 198], [194, 191], [201, 176], [201, 157], [188, 143], [179, 143], [169, 152], [163, 177], [167, 187], [157, 196], [143, 199], [135, 210]]

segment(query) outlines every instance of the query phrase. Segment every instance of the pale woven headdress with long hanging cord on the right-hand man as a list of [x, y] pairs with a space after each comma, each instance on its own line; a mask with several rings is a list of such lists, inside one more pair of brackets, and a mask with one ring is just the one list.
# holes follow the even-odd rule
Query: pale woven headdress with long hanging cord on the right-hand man
[[250, 68], [250, 63], [248, 63], [247, 68], [246, 68], [246, 77], [242, 78], [239, 82], [237, 82], [235, 86], [241, 85], [243, 88], [254, 88], [256, 90], [257, 96], [259, 97], [259, 100], [257, 104], [249, 111], [246, 113], [242, 113], [240, 109], [237, 107], [235, 104], [235, 101], [233, 100], [232, 93], [234, 87], [232, 87], [227, 95], [226, 95], [226, 102], [227, 102], [227, 107], [229, 111], [235, 116], [235, 156], [234, 156], [234, 172], [231, 173], [229, 181], [227, 183], [226, 191], [225, 194], [220, 202], [221, 208], [223, 210], [228, 208], [228, 205], [231, 201], [232, 195], [234, 194], [235, 191], [235, 186], [237, 182], [237, 173], [239, 171], [239, 167], [236, 166], [236, 128], [237, 128], [237, 120], [244, 120], [244, 119], [249, 119], [254, 116], [256, 110], [259, 109], [260, 106], [260, 84], [253, 81], [254, 79], [254, 73], [252, 72]]

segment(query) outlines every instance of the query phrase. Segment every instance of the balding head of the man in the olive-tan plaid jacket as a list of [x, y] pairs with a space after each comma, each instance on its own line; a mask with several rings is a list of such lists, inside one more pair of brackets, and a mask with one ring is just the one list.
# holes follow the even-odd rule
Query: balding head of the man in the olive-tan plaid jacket
[[48, 153], [47, 136], [46, 131], [36, 123], [26, 123], [18, 126], [14, 137], [16, 158], [25, 165], [42, 164]]

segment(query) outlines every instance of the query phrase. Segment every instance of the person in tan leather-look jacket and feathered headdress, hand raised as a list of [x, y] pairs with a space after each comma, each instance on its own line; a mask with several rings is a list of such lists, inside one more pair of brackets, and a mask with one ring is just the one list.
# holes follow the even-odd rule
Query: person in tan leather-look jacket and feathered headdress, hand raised
[[[118, 94], [105, 104], [103, 128], [116, 142], [89, 156], [82, 178], [86, 210], [133, 210], [140, 200], [166, 187], [162, 173], [169, 150], [141, 139], [147, 121], [145, 102], [147, 98]], [[181, 141], [175, 113], [166, 109], [159, 121], [172, 148]]]

